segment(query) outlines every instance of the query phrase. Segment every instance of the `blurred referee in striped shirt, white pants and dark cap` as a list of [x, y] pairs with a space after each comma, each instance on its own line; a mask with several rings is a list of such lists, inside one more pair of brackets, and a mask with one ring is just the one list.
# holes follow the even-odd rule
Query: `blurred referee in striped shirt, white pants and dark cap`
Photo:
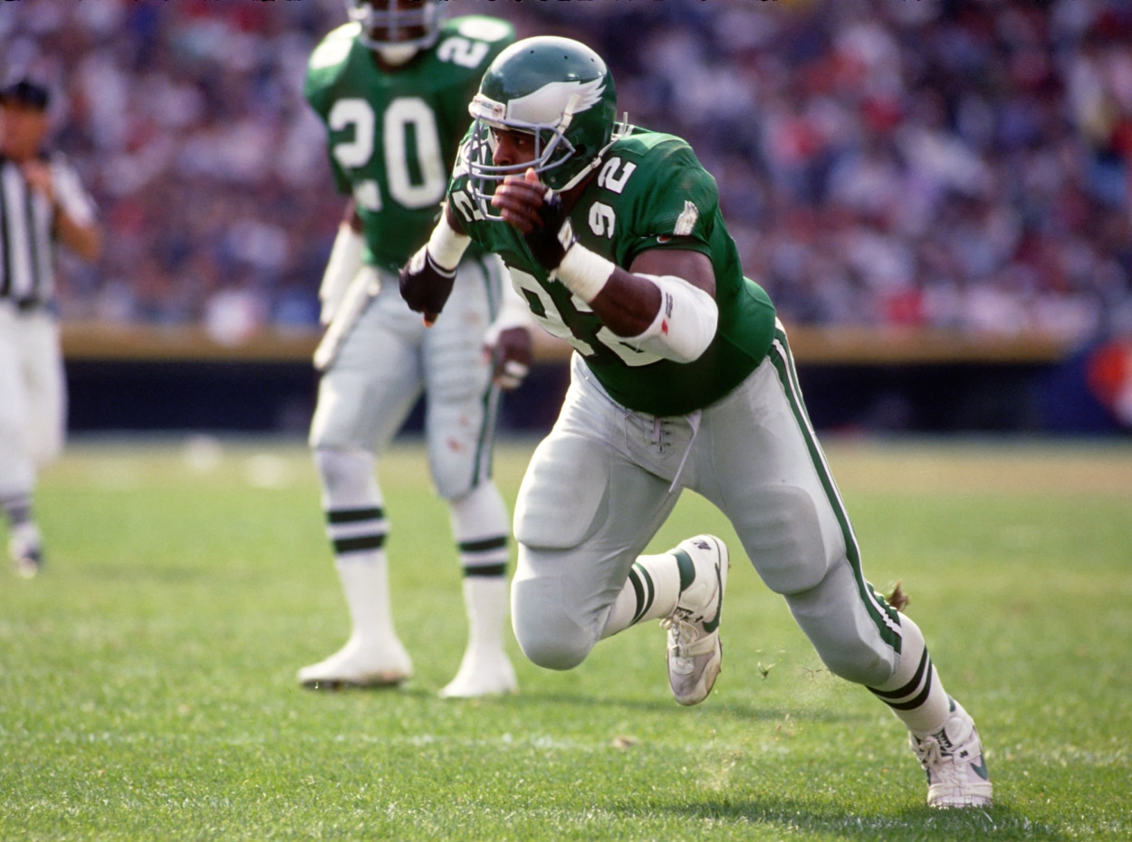
[[94, 204], [58, 153], [49, 154], [48, 88], [0, 88], [0, 509], [16, 572], [43, 564], [32, 512], [36, 471], [59, 455], [67, 387], [53, 302], [54, 248], [102, 251]]

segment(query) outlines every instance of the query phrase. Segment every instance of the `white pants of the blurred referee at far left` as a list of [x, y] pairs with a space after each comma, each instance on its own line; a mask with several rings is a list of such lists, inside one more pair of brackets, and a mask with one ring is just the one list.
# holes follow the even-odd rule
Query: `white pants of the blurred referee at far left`
[[62, 449], [66, 426], [59, 325], [44, 310], [0, 302], [0, 496], [32, 489], [36, 469]]

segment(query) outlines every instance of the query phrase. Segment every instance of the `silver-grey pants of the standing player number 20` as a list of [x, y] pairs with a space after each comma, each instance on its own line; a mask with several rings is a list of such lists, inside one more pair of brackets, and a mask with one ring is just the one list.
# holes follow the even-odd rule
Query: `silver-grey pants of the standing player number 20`
[[499, 394], [482, 342], [499, 311], [501, 276], [497, 257], [465, 258], [444, 312], [426, 328], [401, 298], [397, 276], [383, 272], [380, 292], [321, 377], [310, 446], [380, 452], [424, 393], [437, 492], [457, 498], [486, 480]]

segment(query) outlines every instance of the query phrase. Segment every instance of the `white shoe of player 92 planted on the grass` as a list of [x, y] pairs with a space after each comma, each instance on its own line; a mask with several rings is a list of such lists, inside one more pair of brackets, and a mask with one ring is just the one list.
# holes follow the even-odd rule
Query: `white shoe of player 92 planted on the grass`
[[909, 734], [908, 741], [927, 772], [928, 807], [990, 806], [983, 741], [962, 705], [951, 699], [951, 714], [942, 729], [927, 737]]

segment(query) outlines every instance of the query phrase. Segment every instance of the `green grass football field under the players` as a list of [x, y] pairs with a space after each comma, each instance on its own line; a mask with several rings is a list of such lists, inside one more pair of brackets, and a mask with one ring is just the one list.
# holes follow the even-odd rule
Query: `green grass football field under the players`
[[[514, 500], [530, 443], [500, 448]], [[383, 465], [400, 691], [312, 693], [344, 641], [307, 452], [72, 444], [46, 572], [0, 572], [0, 840], [1132, 839], [1132, 445], [833, 441], [869, 578], [976, 716], [993, 809], [937, 813], [902, 725], [734, 553], [723, 673], [672, 702], [654, 624], [456, 702], [465, 622], [422, 455]], [[686, 496], [658, 535], [732, 536]]]

